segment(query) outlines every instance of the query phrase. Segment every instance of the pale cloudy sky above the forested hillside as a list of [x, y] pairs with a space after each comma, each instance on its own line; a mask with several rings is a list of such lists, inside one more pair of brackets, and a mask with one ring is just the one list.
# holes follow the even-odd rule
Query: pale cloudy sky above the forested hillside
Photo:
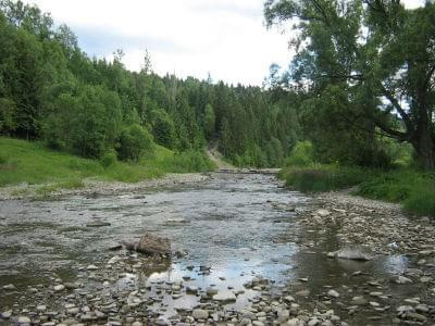
[[[158, 74], [261, 85], [271, 63], [286, 67], [289, 35], [268, 30], [263, 0], [33, 0], [65, 23], [90, 57], [125, 52], [139, 70], [145, 49]], [[408, 0], [417, 5], [423, 0]]]

